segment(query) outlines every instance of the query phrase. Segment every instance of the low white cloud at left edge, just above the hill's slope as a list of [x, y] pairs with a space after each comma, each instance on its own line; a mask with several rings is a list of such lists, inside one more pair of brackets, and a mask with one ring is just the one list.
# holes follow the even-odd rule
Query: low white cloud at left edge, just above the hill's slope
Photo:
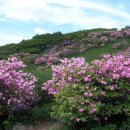
[[0, 46], [9, 43], [18, 43], [23, 39], [28, 39], [28, 38], [30, 38], [30, 36], [0, 33]]

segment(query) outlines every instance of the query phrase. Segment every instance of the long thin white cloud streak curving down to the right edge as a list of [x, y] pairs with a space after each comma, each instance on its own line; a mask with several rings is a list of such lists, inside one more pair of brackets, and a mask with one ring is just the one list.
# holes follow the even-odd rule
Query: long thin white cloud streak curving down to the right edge
[[117, 5], [117, 8], [116, 8], [115, 6], [111, 7], [108, 4], [99, 3], [92, 0], [45, 0], [45, 1], [46, 3], [59, 4], [66, 7], [96, 9], [96, 10], [103, 11], [106, 13], [111, 13], [112, 15], [121, 16], [121, 17], [130, 19], [129, 13], [119, 9], [119, 6], [121, 4]]

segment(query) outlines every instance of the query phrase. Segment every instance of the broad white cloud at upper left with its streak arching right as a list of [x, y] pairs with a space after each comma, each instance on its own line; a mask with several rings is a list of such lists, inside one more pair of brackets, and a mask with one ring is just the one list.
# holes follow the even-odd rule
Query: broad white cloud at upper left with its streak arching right
[[[62, 7], [52, 6], [53, 4]], [[66, 8], [65, 8], [66, 7]], [[65, 19], [71, 19], [67, 8], [73, 11], [73, 14], [82, 13], [82, 9], [94, 9], [102, 11], [103, 13], [120, 16], [130, 20], [129, 13], [120, 10], [117, 6], [111, 7], [110, 5], [99, 3], [92, 0], [6, 0], [0, 5], [0, 13], [5, 15], [6, 18], [16, 19], [20, 21], [48, 21], [51, 16], [56, 17], [55, 21], [61, 20], [60, 16]], [[75, 8], [79, 11], [75, 12]], [[77, 10], [76, 10], [77, 11]], [[58, 17], [59, 16], [59, 17]], [[75, 17], [75, 15], [73, 16]], [[58, 20], [57, 20], [58, 18]], [[62, 21], [64, 21], [62, 19]], [[52, 18], [52, 21], [53, 18]], [[68, 20], [67, 20], [68, 21]]]

